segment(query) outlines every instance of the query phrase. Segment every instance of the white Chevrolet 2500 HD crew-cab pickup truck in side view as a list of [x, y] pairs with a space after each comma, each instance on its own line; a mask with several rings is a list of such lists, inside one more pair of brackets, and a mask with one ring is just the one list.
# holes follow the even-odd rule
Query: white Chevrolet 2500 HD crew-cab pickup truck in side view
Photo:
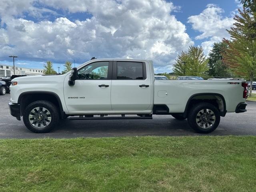
[[10, 91], [11, 115], [23, 116], [37, 133], [49, 132], [68, 116], [142, 120], [153, 114], [187, 118], [196, 132], [209, 133], [220, 116], [245, 112], [247, 105], [243, 80], [155, 80], [150, 60], [92, 59], [63, 75], [15, 78]]

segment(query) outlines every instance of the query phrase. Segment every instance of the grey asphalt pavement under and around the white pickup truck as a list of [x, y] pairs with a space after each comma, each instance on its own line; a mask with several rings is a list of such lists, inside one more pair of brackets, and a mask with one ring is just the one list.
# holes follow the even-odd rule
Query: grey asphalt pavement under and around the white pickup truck
[[[0, 96], [0, 138], [76, 138], [116, 136], [187, 136], [194, 132], [187, 120], [170, 115], [153, 115], [153, 120], [62, 120], [47, 134], [31, 132], [9, 113], [10, 94]], [[256, 102], [248, 102], [247, 112], [227, 113], [218, 128], [208, 135], [256, 135]]]

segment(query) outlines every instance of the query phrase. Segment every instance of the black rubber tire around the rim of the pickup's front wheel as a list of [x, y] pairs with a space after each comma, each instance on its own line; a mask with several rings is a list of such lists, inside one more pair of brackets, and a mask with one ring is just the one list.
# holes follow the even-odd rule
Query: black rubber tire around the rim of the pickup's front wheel
[[[35, 108], [40, 108], [41, 110], [38, 110], [39, 112], [43, 111], [42, 108], [45, 108], [47, 113], [50, 113], [50, 123], [46, 122], [44, 119], [48, 120], [48, 117], [42, 119], [40, 121], [40, 126], [44, 126], [43, 128], [39, 128], [39, 120], [38, 118], [35, 118], [34, 120], [37, 121], [35, 123], [35, 125], [32, 125], [31, 118], [29, 117], [30, 114], [33, 114], [32, 111], [34, 112], [34, 114], [38, 115], [38, 113], [35, 113]], [[34, 118], [34, 117], [33, 117]], [[32, 118], [32, 121], [33, 121]], [[48, 120], [49, 121], [49, 120]], [[55, 126], [56, 124], [58, 124], [59, 121], [59, 113], [58, 113], [58, 108], [52, 103], [52, 102], [48, 102], [45, 100], [38, 100], [38, 101], [34, 101], [32, 103], [30, 103], [24, 110], [23, 112], [23, 122], [26, 125], [26, 127], [35, 133], [47, 133], [50, 132]], [[48, 125], [46, 125], [44, 122], [49, 123]], [[38, 123], [38, 124], [37, 124]], [[37, 126], [36, 126], [37, 124]]]

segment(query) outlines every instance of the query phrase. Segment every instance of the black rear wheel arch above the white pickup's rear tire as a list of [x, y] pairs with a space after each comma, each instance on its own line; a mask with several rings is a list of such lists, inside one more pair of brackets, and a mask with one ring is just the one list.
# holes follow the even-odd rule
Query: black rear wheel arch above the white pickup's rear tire
[[[189, 107], [194, 103], [194, 100], [202, 100], [202, 102], [208, 102], [209, 100], [215, 100], [217, 107], [220, 110], [220, 116], [224, 117], [226, 115], [226, 101], [222, 94], [218, 93], [196, 93], [190, 96], [187, 101], [186, 108], [184, 111], [184, 116], [187, 117]], [[207, 101], [208, 100], [208, 101]], [[198, 103], [198, 102], [197, 102]]]

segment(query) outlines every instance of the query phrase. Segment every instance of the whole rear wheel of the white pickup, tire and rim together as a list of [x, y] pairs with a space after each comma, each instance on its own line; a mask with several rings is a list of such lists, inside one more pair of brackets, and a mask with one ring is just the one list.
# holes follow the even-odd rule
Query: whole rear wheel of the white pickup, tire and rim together
[[188, 112], [188, 124], [198, 133], [210, 133], [220, 124], [220, 112], [210, 103], [196, 104]]

